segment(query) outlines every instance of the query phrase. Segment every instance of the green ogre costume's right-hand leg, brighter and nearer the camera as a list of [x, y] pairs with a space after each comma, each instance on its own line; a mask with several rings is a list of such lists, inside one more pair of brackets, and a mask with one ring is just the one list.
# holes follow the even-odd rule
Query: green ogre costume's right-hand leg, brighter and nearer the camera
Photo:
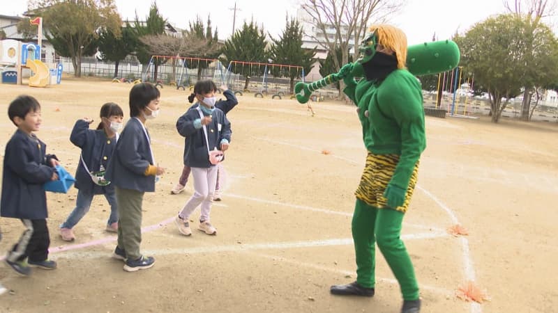
[[393, 209], [379, 209], [376, 218], [376, 240], [379, 250], [399, 282], [403, 299], [417, 300], [418, 284], [413, 264], [405, 244], [400, 239], [404, 215], [401, 211]]

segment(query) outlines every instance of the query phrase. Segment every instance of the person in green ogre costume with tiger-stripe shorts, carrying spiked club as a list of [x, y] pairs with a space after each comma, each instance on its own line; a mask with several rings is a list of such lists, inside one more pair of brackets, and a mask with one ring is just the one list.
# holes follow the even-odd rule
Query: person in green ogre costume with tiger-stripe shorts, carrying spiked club
[[[400, 239], [403, 216], [416, 185], [418, 160], [426, 146], [421, 84], [414, 75], [451, 70], [460, 54], [450, 40], [407, 47], [400, 29], [382, 24], [371, 26], [370, 31], [359, 47], [359, 60], [319, 81], [297, 83], [294, 90], [296, 100], [306, 103], [313, 91], [345, 81], [343, 92], [358, 107], [368, 150], [352, 219], [356, 282], [333, 285], [331, 294], [374, 296], [377, 243], [400, 284], [401, 312], [417, 313], [421, 310], [418, 284]], [[364, 78], [356, 83], [354, 77]]]

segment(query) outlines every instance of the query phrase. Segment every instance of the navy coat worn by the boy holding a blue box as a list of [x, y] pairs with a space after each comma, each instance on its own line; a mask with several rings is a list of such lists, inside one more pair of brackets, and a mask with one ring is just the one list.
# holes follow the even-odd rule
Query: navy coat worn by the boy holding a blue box
[[34, 134], [17, 129], [6, 144], [2, 172], [0, 215], [40, 220], [48, 217], [43, 184], [55, 168], [47, 166], [47, 146]]

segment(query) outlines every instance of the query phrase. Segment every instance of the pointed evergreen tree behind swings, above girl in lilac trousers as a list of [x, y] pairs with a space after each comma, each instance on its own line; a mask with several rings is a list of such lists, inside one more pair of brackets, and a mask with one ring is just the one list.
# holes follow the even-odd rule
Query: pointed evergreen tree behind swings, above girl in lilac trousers
[[[268, 54], [266, 53], [266, 35], [264, 29], [259, 27], [252, 20], [250, 24], [244, 22], [242, 29], [234, 32], [234, 35], [225, 41], [223, 54], [227, 61], [243, 61], [267, 63]], [[262, 75], [264, 67], [241, 65], [233, 66], [231, 71], [234, 74], [242, 74], [246, 77], [244, 89], [248, 89], [251, 75]]]

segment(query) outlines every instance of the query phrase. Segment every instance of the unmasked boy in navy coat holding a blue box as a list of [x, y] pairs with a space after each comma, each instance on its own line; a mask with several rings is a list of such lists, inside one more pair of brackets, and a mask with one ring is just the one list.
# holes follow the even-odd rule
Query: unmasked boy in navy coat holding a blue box
[[4, 152], [0, 215], [20, 219], [25, 231], [6, 255], [6, 263], [17, 273], [29, 275], [29, 266], [56, 268], [56, 262], [48, 259], [50, 236], [43, 184], [58, 179], [54, 166], [59, 162], [54, 154], [46, 154], [45, 143], [33, 134], [42, 121], [35, 98], [15, 98], [8, 106], [8, 116], [17, 130]]

